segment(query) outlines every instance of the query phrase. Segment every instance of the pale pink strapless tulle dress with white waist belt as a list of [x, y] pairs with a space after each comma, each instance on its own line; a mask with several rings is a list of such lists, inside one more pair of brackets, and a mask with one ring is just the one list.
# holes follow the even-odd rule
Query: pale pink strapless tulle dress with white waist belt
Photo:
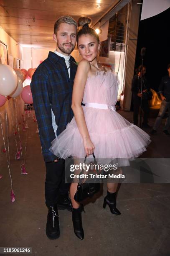
[[[115, 111], [118, 86], [118, 78], [112, 71], [94, 72], [86, 81], [83, 97], [85, 106], [82, 108], [90, 139], [95, 146], [96, 159], [134, 160], [146, 151], [151, 142], [145, 131]], [[75, 118], [51, 142], [50, 151], [63, 159], [69, 156], [85, 157], [83, 139]]]

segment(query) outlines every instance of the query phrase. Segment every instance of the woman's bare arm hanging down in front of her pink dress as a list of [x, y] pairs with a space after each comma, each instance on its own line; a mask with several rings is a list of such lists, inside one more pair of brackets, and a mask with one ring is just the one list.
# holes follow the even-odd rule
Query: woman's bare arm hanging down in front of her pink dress
[[74, 79], [73, 95], [71, 108], [74, 112], [74, 117], [83, 138], [84, 148], [86, 155], [89, 156], [94, 152], [94, 144], [90, 140], [89, 131], [87, 129], [86, 121], [84, 118], [84, 111], [81, 106], [83, 100], [84, 88], [87, 80], [87, 74], [90, 70], [90, 64], [86, 60], [80, 61], [76, 76]]

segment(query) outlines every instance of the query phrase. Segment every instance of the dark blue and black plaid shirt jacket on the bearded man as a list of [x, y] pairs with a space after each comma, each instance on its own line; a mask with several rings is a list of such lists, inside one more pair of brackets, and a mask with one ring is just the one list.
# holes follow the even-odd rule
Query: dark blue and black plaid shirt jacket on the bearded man
[[76, 61], [70, 56], [69, 78], [65, 59], [50, 51], [48, 58], [38, 66], [33, 74], [30, 87], [33, 94], [42, 153], [46, 162], [56, 159], [56, 156], [49, 151], [51, 141], [56, 138], [52, 125], [51, 109], [58, 126], [57, 136], [73, 118], [71, 98], [76, 69]]

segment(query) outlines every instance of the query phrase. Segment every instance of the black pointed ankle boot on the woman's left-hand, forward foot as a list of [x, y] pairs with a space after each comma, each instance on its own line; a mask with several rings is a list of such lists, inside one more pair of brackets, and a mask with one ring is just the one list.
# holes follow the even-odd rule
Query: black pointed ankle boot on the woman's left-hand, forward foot
[[72, 220], [73, 220], [73, 227], [74, 233], [79, 239], [84, 238], [84, 230], [82, 227], [82, 220], [81, 220], [81, 205], [79, 208], [72, 208]]

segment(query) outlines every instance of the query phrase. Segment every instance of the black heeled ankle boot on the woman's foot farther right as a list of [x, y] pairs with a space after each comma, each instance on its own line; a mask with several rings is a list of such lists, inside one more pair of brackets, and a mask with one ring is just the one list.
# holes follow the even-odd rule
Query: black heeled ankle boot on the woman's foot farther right
[[121, 214], [119, 210], [116, 208], [116, 192], [110, 193], [109, 191], [107, 191], [107, 196], [104, 197], [103, 208], [106, 208], [106, 205], [109, 205], [110, 211], [113, 214], [116, 214], [116, 215]]

